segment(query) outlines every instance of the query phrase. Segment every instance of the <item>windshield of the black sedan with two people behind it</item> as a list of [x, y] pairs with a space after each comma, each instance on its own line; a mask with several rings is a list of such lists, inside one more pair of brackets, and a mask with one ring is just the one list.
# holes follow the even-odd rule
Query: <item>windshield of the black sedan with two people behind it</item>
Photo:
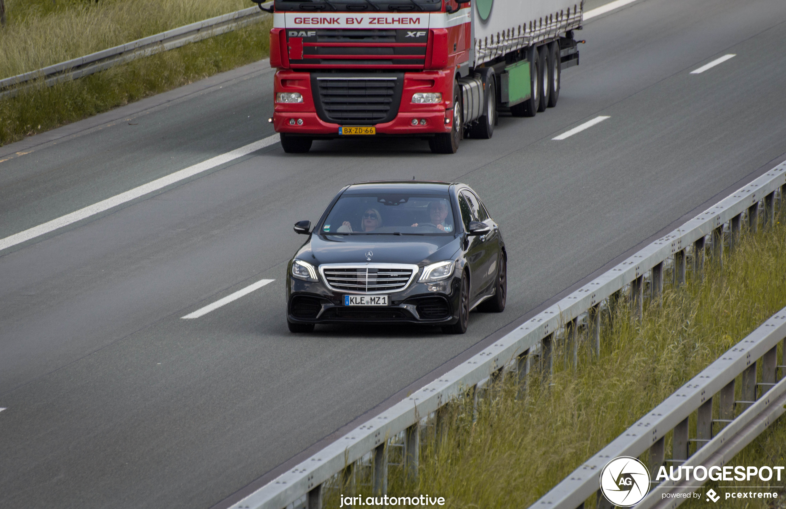
[[321, 233], [336, 235], [453, 235], [455, 231], [447, 195], [343, 195], [321, 226]]

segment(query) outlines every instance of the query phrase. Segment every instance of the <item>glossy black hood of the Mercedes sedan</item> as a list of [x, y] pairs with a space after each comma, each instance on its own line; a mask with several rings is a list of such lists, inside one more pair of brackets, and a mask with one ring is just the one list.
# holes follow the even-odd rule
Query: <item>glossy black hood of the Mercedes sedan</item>
[[371, 262], [426, 265], [449, 260], [461, 246], [457, 236], [312, 235], [295, 255], [314, 265]]

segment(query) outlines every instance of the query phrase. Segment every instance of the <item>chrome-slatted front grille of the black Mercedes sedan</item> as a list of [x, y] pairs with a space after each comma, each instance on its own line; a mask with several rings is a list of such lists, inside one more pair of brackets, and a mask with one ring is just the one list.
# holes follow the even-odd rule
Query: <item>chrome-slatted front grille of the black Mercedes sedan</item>
[[334, 291], [381, 294], [402, 291], [417, 274], [417, 265], [369, 263], [369, 265], [320, 265], [325, 283]]

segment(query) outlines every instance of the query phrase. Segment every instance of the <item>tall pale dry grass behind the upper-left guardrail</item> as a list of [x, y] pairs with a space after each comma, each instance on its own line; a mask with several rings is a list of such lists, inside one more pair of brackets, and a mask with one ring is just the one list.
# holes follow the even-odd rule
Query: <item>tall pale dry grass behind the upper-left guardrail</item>
[[6, 0], [0, 79], [252, 6], [247, 0]]

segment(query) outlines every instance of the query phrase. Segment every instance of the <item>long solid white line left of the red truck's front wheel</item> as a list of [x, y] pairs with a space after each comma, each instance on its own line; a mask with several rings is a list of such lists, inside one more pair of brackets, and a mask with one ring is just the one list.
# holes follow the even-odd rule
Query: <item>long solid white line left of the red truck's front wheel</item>
[[278, 141], [278, 134], [268, 136], [262, 140], [255, 141], [254, 143], [249, 143], [244, 147], [236, 148], [232, 152], [226, 152], [226, 154], [222, 154], [221, 156], [215, 156], [211, 159], [208, 159], [207, 161], [203, 161], [202, 163], [184, 168], [183, 170], [175, 171], [173, 174], [169, 174], [166, 177], [158, 178], [152, 182], [148, 182], [147, 184], [140, 185], [139, 187], [130, 189], [130, 191], [121, 192], [119, 195], [112, 196], [112, 198], [107, 198], [106, 200], [102, 200], [98, 203], [94, 203], [93, 205], [79, 209], [79, 211], [74, 211], [71, 214], [65, 214], [60, 218], [45, 222], [42, 225], [34, 226], [31, 229], [26, 229], [20, 233], [15, 233], [12, 236], [7, 236], [5, 239], [0, 239], [0, 251], [6, 249], [6, 247], [20, 244], [25, 240], [34, 239], [35, 237], [41, 236], [45, 233], [53, 232], [54, 230], [62, 228], [63, 226], [90, 218], [92, 215], [100, 214], [101, 212], [107, 211], [112, 207], [116, 207], [130, 200], [135, 200], [140, 196], [145, 196], [149, 192], [157, 191], [167, 187], [167, 185], [182, 181], [185, 178], [193, 177], [196, 174], [200, 174], [203, 171], [210, 170], [211, 168], [215, 168], [221, 164], [229, 163], [233, 159], [247, 156], [248, 154], [257, 151], [260, 148], [273, 145]]

